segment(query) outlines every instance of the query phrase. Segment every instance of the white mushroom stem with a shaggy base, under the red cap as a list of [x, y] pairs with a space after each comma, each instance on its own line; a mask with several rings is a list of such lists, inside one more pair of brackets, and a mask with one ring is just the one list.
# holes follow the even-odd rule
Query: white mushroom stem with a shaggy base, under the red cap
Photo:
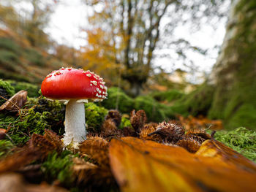
[[86, 139], [86, 118], [83, 102], [71, 99], [66, 105], [64, 145], [78, 147]]

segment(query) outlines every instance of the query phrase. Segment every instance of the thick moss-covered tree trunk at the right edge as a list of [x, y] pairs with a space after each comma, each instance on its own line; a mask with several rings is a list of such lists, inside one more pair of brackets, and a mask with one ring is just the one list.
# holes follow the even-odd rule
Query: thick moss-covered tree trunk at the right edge
[[216, 86], [209, 118], [226, 128], [256, 129], [256, 1], [233, 1], [227, 34], [211, 74]]

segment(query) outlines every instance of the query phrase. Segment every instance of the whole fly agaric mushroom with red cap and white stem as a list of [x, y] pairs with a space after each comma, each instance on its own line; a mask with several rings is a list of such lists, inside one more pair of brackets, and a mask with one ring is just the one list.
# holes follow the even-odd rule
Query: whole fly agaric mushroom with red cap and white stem
[[45, 77], [41, 91], [46, 98], [59, 99], [67, 104], [63, 142], [65, 146], [72, 143], [74, 147], [86, 139], [83, 103], [102, 101], [108, 96], [105, 82], [94, 72], [64, 67]]

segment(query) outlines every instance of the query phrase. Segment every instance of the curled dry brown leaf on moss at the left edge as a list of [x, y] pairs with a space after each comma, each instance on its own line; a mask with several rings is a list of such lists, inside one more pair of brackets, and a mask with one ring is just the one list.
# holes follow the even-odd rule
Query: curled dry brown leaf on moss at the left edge
[[12, 96], [8, 101], [1, 105], [1, 110], [8, 110], [8, 111], [18, 111], [20, 108], [24, 106], [27, 101], [28, 92], [27, 91], [19, 91], [14, 96]]

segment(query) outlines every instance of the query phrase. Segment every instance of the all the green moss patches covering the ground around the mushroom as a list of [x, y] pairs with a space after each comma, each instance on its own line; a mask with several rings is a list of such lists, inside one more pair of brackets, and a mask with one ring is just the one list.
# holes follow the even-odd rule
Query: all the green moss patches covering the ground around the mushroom
[[[100, 134], [102, 123], [105, 120], [108, 110], [116, 109], [122, 113], [121, 123], [118, 128], [132, 128], [129, 120], [129, 112], [145, 110], [148, 121], [161, 122], [175, 118], [176, 114], [182, 115], [207, 115], [207, 109], [211, 107], [212, 88], [202, 88], [190, 93], [188, 100], [184, 93], [168, 91], [154, 93], [148, 96], [139, 96], [135, 99], [127, 96], [124, 91], [118, 88], [109, 88], [109, 99], [102, 103], [85, 104], [86, 127], [89, 132]], [[7, 99], [15, 92], [25, 88], [29, 93], [26, 105], [20, 112], [0, 112], [0, 128], [7, 129], [7, 136], [0, 140], [0, 159], [13, 153], [14, 147], [23, 146], [32, 134], [44, 134], [45, 128], [54, 131], [60, 136], [64, 134], [64, 104], [59, 101], [50, 101], [40, 95], [38, 88], [30, 84], [0, 81], [0, 90], [5, 91]], [[33, 97], [36, 96], [36, 97]], [[170, 101], [170, 103], [166, 103]], [[173, 102], [175, 101], [175, 102]], [[118, 102], [118, 103], [117, 103]], [[256, 161], [256, 132], [247, 128], [237, 128], [233, 131], [217, 131], [215, 139], [233, 148], [246, 158]], [[51, 183], [59, 180], [63, 186], [72, 191], [79, 191], [72, 184], [73, 159], [77, 154], [64, 150], [61, 153], [53, 152], [40, 166], [42, 172], [41, 180]], [[85, 161], [88, 161], [85, 157]], [[38, 162], [34, 162], [37, 164]]]

